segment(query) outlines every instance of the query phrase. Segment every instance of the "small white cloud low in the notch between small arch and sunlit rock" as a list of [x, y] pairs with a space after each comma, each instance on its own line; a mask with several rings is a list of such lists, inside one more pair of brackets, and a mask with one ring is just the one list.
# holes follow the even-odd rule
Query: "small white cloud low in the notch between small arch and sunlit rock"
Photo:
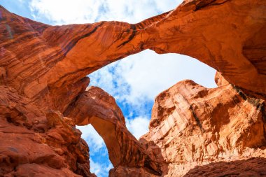
[[137, 117], [132, 120], [126, 118], [127, 129], [139, 139], [142, 135], [148, 132], [148, 124], [150, 119], [147, 117]]

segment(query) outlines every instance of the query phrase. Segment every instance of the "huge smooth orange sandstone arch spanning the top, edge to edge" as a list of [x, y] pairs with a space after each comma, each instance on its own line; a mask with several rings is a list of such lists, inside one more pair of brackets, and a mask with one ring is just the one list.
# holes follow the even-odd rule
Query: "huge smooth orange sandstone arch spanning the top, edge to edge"
[[[184, 1], [171, 12], [138, 24], [55, 27], [1, 8], [1, 66], [8, 75], [7, 85], [59, 111], [69, 104], [60, 104], [63, 108], [56, 104], [68, 94], [66, 87], [76, 90], [73, 83], [88, 73], [148, 48], [200, 59], [230, 83], [265, 96], [264, 6], [265, 1], [258, 0]], [[85, 80], [79, 84], [87, 85]]]

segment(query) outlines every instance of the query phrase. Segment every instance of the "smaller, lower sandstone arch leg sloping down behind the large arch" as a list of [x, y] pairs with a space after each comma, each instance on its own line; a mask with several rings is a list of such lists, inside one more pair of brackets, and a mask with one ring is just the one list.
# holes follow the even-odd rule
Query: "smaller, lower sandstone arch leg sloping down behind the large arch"
[[163, 160], [156, 160], [127, 130], [122, 111], [104, 90], [89, 87], [64, 114], [75, 118], [76, 125], [91, 124], [96, 129], [104, 139], [113, 167], [144, 168], [151, 174], [162, 174]]

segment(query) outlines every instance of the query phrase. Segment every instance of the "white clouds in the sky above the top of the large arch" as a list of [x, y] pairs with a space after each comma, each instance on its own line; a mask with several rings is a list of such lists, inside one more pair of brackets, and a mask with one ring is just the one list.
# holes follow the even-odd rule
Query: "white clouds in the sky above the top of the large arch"
[[91, 23], [116, 20], [136, 23], [174, 9], [181, 0], [31, 0], [36, 20], [43, 17], [54, 24]]

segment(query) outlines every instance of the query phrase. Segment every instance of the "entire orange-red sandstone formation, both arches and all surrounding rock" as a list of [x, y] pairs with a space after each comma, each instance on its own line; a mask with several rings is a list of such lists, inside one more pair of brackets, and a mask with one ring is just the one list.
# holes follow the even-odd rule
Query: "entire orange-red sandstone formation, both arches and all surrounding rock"
[[[64, 26], [0, 6], [1, 176], [94, 176], [75, 128], [87, 124], [109, 149], [110, 176], [266, 175], [265, 6], [191, 0], [138, 24]], [[86, 90], [86, 76], [146, 49], [199, 59], [220, 72], [219, 87], [184, 80], [162, 92], [137, 141], [113, 97]]]

